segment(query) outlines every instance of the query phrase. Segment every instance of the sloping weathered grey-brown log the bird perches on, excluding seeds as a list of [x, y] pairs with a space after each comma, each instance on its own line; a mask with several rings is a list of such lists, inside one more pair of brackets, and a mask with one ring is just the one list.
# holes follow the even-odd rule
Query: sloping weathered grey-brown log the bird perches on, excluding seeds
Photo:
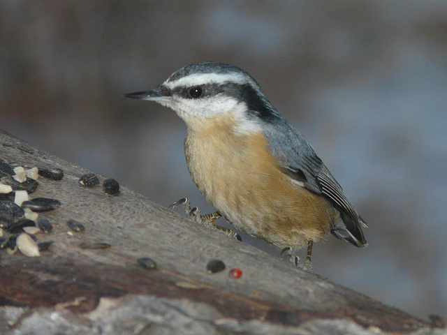
[[[110, 197], [80, 186], [90, 171], [1, 131], [0, 158], [64, 170], [61, 181], [40, 177], [30, 195], [62, 203], [40, 215], [54, 225], [37, 235], [50, 249], [39, 258], [1, 251], [1, 334], [446, 334], [439, 318], [419, 320], [295, 269], [129, 189]], [[71, 218], [85, 231], [67, 234]], [[156, 269], [140, 267], [142, 257]], [[226, 269], [208, 273], [213, 258]], [[241, 278], [228, 276], [234, 267]]]

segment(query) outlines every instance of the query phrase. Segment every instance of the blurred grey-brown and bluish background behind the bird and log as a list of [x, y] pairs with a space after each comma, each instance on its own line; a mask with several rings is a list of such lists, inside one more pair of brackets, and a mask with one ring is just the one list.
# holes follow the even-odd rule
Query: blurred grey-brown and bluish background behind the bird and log
[[0, 1], [0, 128], [211, 211], [183, 122], [122, 96], [197, 61], [253, 75], [369, 223], [365, 250], [316, 244], [314, 271], [446, 315], [447, 1]]

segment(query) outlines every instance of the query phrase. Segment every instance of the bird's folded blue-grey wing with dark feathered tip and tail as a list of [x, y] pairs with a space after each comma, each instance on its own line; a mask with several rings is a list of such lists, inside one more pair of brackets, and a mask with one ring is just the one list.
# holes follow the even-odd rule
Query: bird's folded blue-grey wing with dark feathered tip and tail
[[330, 232], [355, 246], [366, 246], [360, 218], [353, 204], [343, 194], [340, 186], [312, 146], [302, 135], [280, 118], [273, 124], [266, 124], [265, 136], [269, 140], [272, 154], [278, 158], [284, 173], [302, 184], [309, 191], [326, 198], [340, 212], [340, 219], [332, 223]]

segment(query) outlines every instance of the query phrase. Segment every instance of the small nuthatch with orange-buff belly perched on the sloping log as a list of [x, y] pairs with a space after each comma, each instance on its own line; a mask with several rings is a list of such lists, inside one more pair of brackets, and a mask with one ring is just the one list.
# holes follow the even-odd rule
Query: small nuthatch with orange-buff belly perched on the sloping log
[[[184, 154], [191, 177], [217, 211], [196, 221], [214, 225], [223, 216], [236, 229], [288, 253], [295, 266], [312, 271], [314, 241], [332, 233], [367, 246], [367, 227], [342, 186], [311, 144], [265, 98], [254, 77], [236, 66], [200, 62], [175, 71], [156, 89], [125, 94], [170, 108], [186, 124]], [[307, 246], [305, 262], [299, 251]]]

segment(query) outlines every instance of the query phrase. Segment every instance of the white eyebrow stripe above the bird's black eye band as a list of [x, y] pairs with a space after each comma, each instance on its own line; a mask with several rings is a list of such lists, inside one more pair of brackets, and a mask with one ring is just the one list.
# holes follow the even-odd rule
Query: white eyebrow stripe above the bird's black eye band
[[196, 73], [193, 75], [186, 75], [186, 77], [173, 80], [172, 82], [166, 80], [163, 83], [169, 89], [175, 87], [191, 87], [194, 85], [203, 84], [223, 84], [225, 82], [234, 82], [235, 84], [250, 84], [256, 87], [255, 83], [247, 80], [247, 75], [242, 73]]

